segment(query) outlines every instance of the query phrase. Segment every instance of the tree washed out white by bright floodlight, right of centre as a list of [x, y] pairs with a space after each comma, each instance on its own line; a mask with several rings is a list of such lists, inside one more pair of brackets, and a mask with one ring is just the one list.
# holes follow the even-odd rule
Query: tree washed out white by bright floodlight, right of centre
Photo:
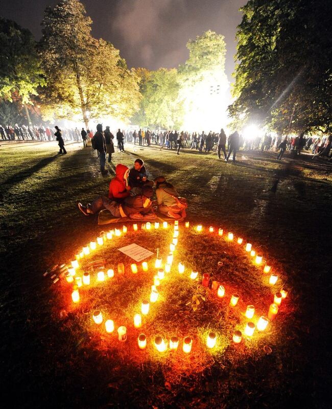
[[219, 129], [226, 121], [226, 44], [223, 35], [206, 31], [187, 42], [189, 58], [179, 67], [179, 103], [184, 127], [189, 130]]

